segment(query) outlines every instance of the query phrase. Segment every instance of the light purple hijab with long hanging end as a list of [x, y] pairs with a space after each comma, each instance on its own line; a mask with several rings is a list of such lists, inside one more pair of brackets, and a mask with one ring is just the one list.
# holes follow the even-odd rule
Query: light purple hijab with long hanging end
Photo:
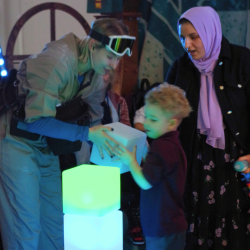
[[213, 81], [213, 70], [220, 54], [222, 40], [220, 18], [211, 7], [191, 8], [181, 18], [186, 18], [192, 23], [201, 38], [206, 53], [199, 60], [193, 60], [190, 56], [201, 73], [197, 128], [201, 134], [207, 135], [207, 144], [214, 148], [225, 149], [222, 113]]

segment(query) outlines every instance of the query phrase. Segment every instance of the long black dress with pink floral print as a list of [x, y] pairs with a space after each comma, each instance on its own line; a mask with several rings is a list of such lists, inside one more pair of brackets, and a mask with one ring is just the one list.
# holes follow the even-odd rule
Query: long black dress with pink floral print
[[225, 131], [225, 150], [196, 134], [188, 169], [185, 209], [186, 250], [250, 250], [250, 199], [241, 173], [233, 163], [244, 154]]

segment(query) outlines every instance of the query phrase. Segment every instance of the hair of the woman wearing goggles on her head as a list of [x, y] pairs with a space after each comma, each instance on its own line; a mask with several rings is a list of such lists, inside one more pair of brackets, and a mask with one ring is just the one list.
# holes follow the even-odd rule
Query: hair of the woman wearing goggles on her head
[[[102, 18], [97, 19], [92, 22], [91, 29], [99, 32], [102, 35], [106, 36], [119, 36], [119, 35], [128, 35], [128, 27], [121, 21], [114, 18]], [[87, 63], [89, 59], [89, 42], [93, 39], [90, 36], [83, 40], [78, 40], [79, 47], [79, 61]], [[104, 48], [101, 42], [96, 41], [96, 48]]]

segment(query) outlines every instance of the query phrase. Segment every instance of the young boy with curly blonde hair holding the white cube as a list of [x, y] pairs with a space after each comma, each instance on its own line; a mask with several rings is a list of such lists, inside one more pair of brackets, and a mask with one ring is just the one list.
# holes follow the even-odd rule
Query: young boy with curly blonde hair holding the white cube
[[183, 192], [186, 157], [177, 127], [191, 111], [183, 91], [167, 83], [152, 89], [145, 97], [147, 136], [153, 140], [142, 168], [133, 152], [117, 146], [116, 155], [130, 167], [141, 187], [140, 216], [146, 250], [183, 250], [186, 228]]

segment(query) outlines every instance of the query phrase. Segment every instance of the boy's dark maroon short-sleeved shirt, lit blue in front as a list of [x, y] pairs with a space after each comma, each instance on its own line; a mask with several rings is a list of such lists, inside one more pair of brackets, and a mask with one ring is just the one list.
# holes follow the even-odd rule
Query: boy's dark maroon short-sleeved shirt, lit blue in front
[[187, 162], [179, 132], [155, 139], [143, 163], [143, 175], [153, 186], [141, 190], [140, 217], [145, 236], [164, 236], [187, 229], [183, 193]]

